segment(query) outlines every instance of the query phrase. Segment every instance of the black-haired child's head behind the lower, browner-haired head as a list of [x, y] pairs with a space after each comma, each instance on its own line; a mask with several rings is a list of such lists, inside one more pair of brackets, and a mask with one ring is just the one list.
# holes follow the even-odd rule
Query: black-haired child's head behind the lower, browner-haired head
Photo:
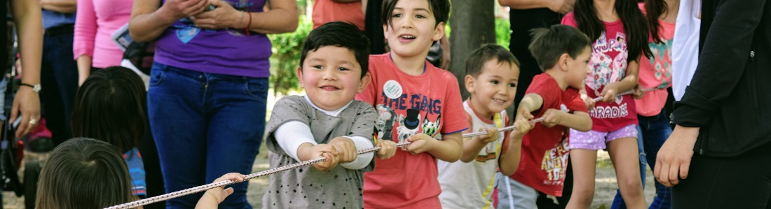
[[136, 147], [146, 131], [146, 91], [142, 79], [128, 68], [96, 71], [75, 95], [72, 135], [96, 138], [121, 153]]

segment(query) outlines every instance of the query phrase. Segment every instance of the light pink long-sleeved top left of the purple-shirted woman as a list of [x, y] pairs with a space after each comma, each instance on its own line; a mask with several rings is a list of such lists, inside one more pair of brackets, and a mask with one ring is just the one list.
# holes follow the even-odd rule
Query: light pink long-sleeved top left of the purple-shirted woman
[[129, 22], [132, 5], [133, 1], [123, 0], [79, 0], [72, 43], [75, 59], [89, 55], [96, 68], [120, 65], [123, 51], [110, 36]]

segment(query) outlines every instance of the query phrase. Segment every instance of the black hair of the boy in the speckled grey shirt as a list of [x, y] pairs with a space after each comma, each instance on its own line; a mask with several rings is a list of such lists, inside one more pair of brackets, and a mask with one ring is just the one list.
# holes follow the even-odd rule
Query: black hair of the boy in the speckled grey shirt
[[369, 39], [359, 31], [359, 27], [349, 22], [328, 22], [315, 28], [305, 38], [300, 55], [300, 68], [305, 63], [308, 51], [316, 51], [322, 46], [348, 48], [353, 52], [356, 61], [362, 66], [362, 77], [369, 70]]

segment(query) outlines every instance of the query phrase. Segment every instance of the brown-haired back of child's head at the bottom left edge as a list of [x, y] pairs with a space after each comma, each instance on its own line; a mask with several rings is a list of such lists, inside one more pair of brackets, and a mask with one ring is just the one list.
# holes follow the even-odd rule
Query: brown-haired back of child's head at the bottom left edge
[[129, 168], [115, 146], [72, 138], [51, 151], [39, 177], [37, 208], [96, 209], [133, 201]]

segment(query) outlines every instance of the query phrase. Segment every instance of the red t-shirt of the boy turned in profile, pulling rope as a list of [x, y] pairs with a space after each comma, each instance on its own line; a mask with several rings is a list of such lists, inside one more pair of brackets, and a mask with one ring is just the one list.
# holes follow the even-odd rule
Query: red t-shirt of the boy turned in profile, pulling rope
[[[557, 81], [547, 73], [536, 75], [525, 95], [537, 94], [544, 98], [544, 105], [533, 112], [540, 118], [548, 109], [587, 111], [578, 90], [567, 88], [562, 91]], [[517, 172], [511, 178], [545, 194], [562, 196], [562, 187], [567, 172], [567, 128], [555, 125], [547, 128], [536, 123], [522, 138], [522, 157]]]

